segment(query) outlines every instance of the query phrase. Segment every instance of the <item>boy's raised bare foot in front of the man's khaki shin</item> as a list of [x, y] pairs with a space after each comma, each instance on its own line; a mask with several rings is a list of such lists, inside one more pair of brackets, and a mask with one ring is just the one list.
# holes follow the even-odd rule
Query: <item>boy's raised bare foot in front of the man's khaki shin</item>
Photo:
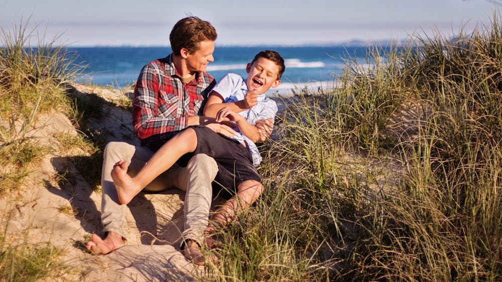
[[138, 187], [133, 178], [127, 174], [128, 167], [128, 162], [118, 161], [111, 170], [111, 178], [115, 189], [117, 189], [118, 201], [124, 205], [128, 204], [141, 191], [141, 187]]

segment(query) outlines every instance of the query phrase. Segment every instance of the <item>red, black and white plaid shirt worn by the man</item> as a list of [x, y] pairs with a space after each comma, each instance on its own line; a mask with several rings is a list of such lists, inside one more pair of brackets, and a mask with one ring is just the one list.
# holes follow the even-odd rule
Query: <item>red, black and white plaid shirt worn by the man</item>
[[201, 115], [214, 78], [196, 74], [187, 85], [176, 72], [172, 54], [151, 62], [140, 72], [134, 90], [134, 131], [143, 146], [158, 149], [187, 127], [189, 116]]

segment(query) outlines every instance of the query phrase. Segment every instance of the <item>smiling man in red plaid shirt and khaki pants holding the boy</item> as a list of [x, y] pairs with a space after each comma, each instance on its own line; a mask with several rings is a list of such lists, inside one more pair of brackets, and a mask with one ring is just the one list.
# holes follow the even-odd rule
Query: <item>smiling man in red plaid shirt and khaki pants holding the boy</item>
[[[167, 140], [190, 125], [204, 125], [216, 133], [234, 136], [235, 131], [215, 122], [214, 118], [198, 116], [207, 94], [215, 84], [207, 74], [209, 62], [214, 61], [214, 27], [196, 17], [188, 17], [175, 24], [170, 34], [168, 57], [146, 65], [138, 77], [133, 99], [135, 132], [141, 147], [124, 142], [110, 142], [103, 153], [101, 175], [101, 221], [106, 238], [92, 235], [87, 249], [95, 254], [106, 254], [124, 245], [126, 238], [126, 206], [120, 205], [110, 172], [113, 165], [124, 160], [131, 165], [134, 175]], [[271, 127], [259, 123], [261, 139], [267, 138]], [[203, 264], [200, 245], [205, 243], [204, 230], [212, 199], [211, 182], [218, 172], [213, 158], [204, 154], [192, 157], [186, 167], [172, 168], [157, 177], [145, 189], [162, 191], [176, 187], [186, 191], [185, 230], [182, 233], [184, 254], [196, 264]], [[245, 200], [245, 199], [244, 199]]]

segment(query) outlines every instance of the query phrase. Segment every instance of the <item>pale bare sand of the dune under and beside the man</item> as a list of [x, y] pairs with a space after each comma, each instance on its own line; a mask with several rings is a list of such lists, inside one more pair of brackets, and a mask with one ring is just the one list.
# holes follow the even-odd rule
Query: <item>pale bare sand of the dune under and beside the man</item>
[[[75, 87], [81, 98], [97, 95], [104, 102], [107, 114], [92, 120], [92, 129], [106, 141], [127, 140], [138, 144], [131, 112], [105, 102], [131, 93]], [[63, 260], [79, 272], [60, 277], [63, 280], [184, 281], [200, 275], [204, 268], [187, 261], [179, 249], [185, 194], [177, 189], [159, 194], [140, 193], [133, 199], [128, 205], [130, 240], [126, 246], [107, 255], [92, 255], [85, 250], [90, 234], [104, 235], [100, 220], [101, 194], [93, 190], [86, 176], [75, 167], [79, 159], [89, 156], [78, 149], [58, 149], [64, 144], [58, 144], [55, 136], [62, 133], [74, 136], [78, 131], [68, 117], [57, 111], [40, 115], [29, 132], [31, 137], [53, 149], [33, 165], [21, 189], [0, 199], [2, 223], [9, 222], [9, 240], [21, 242], [28, 232], [26, 238], [30, 243], [51, 242], [64, 249]], [[71, 175], [70, 181], [57, 181], [58, 172], [65, 171]]]

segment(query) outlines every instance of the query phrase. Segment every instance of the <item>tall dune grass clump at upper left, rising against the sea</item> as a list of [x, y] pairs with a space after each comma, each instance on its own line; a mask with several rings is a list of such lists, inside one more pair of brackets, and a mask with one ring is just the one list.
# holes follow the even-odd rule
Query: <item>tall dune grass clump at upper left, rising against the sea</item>
[[0, 33], [0, 195], [20, 187], [30, 164], [49, 151], [28, 133], [40, 130], [34, 128], [40, 113], [74, 112], [65, 84], [85, 67], [74, 64], [76, 54], [57, 43], [59, 37], [46, 42], [27, 25]]

